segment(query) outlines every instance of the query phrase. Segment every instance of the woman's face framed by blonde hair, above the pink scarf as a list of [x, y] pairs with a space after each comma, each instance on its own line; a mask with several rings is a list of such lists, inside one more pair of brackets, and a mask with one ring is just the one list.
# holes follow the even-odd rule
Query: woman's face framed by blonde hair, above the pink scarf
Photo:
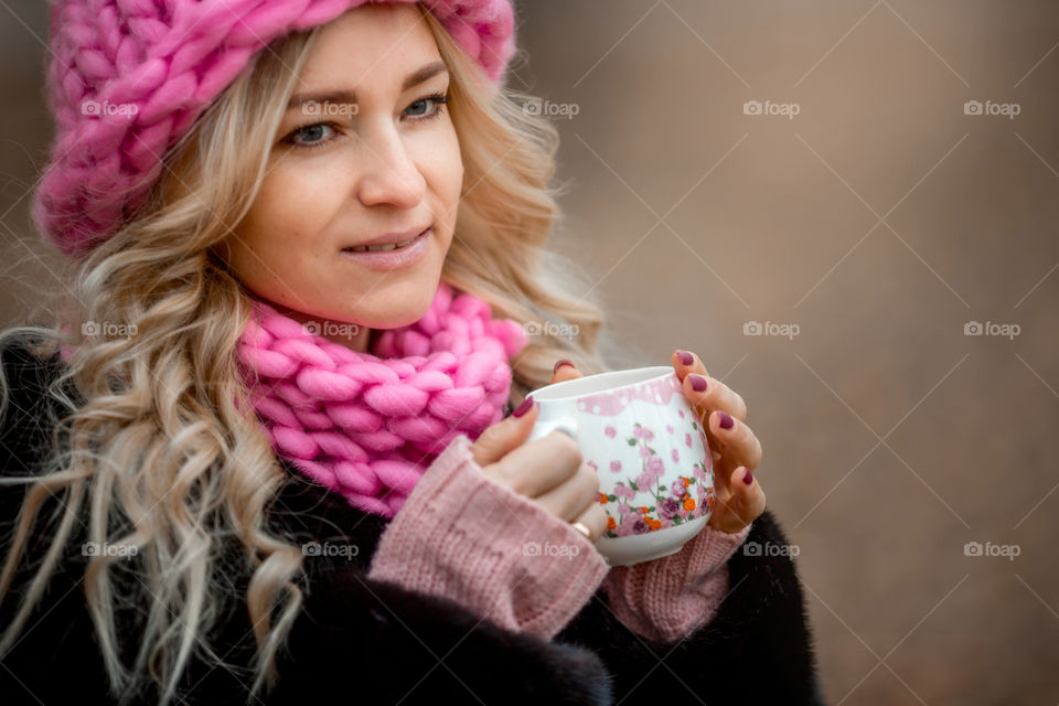
[[[441, 103], [443, 66], [413, 6], [360, 6], [321, 30], [264, 186], [222, 248], [244, 286], [357, 350], [366, 349], [366, 329], [426, 313], [463, 181]], [[387, 235], [406, 240], [428, 226], [389, 253], [347, 250]]]

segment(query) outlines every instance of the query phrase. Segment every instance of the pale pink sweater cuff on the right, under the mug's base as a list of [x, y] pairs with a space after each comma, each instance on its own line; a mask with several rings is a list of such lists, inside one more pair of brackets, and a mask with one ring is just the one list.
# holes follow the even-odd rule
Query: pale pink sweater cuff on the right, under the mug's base
[[750, 534], [706, 526], [680, 552], [616, 566], [603, 581], [611, 610], [630, 630], [673, 642], [708, 623], [728, 593], [728, 558]]

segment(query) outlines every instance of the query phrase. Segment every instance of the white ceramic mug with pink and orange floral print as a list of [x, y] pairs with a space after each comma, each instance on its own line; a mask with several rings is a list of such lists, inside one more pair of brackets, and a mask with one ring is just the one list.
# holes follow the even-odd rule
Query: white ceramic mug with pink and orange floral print
[[599, 475], [608, 528], [596, 548], [611, 566], [681, 550], [714, 509], [714, 464], [702, 421], [671, 366], [587, 375], [531, 393], [527, 440], [564, 431]]

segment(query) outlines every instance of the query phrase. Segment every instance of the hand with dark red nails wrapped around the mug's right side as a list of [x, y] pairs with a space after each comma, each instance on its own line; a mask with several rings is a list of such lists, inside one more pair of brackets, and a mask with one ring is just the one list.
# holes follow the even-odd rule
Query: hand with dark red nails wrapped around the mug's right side
[[[674, 351], [671, 362], [684, 396], [698, 418], [707, 420], [704, 428], [714, 458], [715, 503], [706, 524], [729, 534], [739, 532], [764, 512], [764, 491], [752, 474], [761, 462], [761, 443], [746, 425], [747, 404], [730, 387], [709, 377], [694, 353]], [[553, 383], [575, 377], [581, 374], [571, 362], [556, 363]]]

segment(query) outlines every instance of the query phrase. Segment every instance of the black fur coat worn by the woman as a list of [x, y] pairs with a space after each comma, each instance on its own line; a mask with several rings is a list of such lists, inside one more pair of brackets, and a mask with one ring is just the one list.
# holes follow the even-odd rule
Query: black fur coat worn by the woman
[[[39, 361], [21, 346], [3, 351], [2, 359], [10, 398], [0, 427], [0, 468], [6, 474], [30, 473], [47, 440], [42, 389], [62, 362], [57, 356]], [[249, 703], [821, 703], [801, 585], [789, 557], [732, 555], [731, 588], [719, 612], [683, 640], [641, 638], [614, 617], [599, 590], [545, 641], [501, 629], [456, 603], [368, 580], [386, 518], [360, 512], [287, 470], [290, 482], [271, 509], [270, 522], [306, 542], [353, 544], [359, 553], [306, 557], [304, 611], [278, 662], [278, 685]], [[0, 488], [4, 555], [22, 494], [20, 486]], [[42, 514], [56, 506], [45, 504]], [[0, 703], [117, 703], [107, 693], [85, 607], [85, 537], [78, 526], [42, 605], [19, 642], [0, 655]], [[768, 511], [753, 523], [747, 542], [787, 544]], [[38, 541], [32, 546], [35, 556], [43, 555], [45, 545]], [[25, 576], [23, 563], [15, 593]], [[15, 593], [0, 605], [0, 628], [14, 614]], [[131, 663], [140, 634], [137, 614], [119, 612], [117, 624]], [[211, 670], [196, 659], [184, 676], [180, 703], [247, 703], [254, 639], [245, 605], [231, 607], [221, 624], [210, 646], [243, 668]], [[157, 702], [157, 692], [149, 692], [137, 703]]]

